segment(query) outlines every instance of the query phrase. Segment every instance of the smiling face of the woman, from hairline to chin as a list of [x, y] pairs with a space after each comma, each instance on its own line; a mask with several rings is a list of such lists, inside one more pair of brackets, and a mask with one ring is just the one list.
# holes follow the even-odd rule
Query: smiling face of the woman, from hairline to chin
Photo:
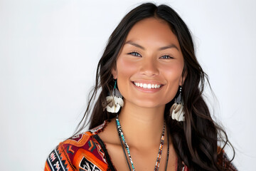
[[166, 21], [144, 19], [135, 24], [117, 57], [112, 74], [124, 97], [144, 108], [163, 107], [182, 85], [183, 56]]

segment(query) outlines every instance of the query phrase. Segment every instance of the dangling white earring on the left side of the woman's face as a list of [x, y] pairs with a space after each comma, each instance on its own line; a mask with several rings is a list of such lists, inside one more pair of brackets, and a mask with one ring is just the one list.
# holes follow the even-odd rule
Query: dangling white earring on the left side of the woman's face
[[122, 95], [117, 89], [117, 80], [114, 81], [114, 89], [110, 95], [106, 97], [106, 108], [109, 113], [118, 113], [121, 107], [124, 106]]

